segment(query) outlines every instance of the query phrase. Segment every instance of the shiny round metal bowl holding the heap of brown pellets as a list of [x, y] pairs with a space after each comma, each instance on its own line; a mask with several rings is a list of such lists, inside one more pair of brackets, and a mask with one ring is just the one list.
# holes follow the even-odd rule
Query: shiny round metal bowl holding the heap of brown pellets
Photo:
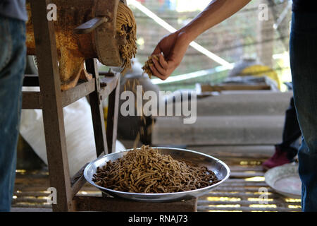
[[99, 157], [97, 160], [90, 162], [84, 170], [84, 177], [90, 184], [96, 186], [102, 192], [111, 195], [113, 197], [119, 198], [128, 198], [133, 201], [144, 201], [144, 202], [169, 202], [169, 201], [180, 201], [189, 198], [197, 198], [202, 196], [212, 189], [214, 189], [219, 184], [225, 182], [226, 179], [230, 176], [230, 169], [228, 165], [225, 165], [224, 162], [216, 159], [216, 157], [211, 157], [210, 155], [206, 155], [204, 153], [198, 153], [192, 150], [185, 150], [180, 148], [157, 148], [159, 153], [163, 155], [170, 155], [175, 160], [187, 160], [195, 165], [205, 166], [208, 169], [212, 170], [220, 182], [216, 184], [212, 184], [211, 186], [206, 186], [202, 189], [196, 189], [192, 191], [180, 191], [174, 193], [157, 193], [157, 194], [144, 194], [144, 193], [131, 193], [124, 191], [115, 191], [111, 189], [106, 189], [102, 186], [94, 184], [92, 178], [97, 171], [97, 167], [103, 167], [106, 165], [106, 162], [111, 160], [117, 160], [120, 157], [123, 157], [128, 153], [129, 150], [123, 150], [119, 153], [111, 153], [108, 155], [104, 155], [103, 157]]

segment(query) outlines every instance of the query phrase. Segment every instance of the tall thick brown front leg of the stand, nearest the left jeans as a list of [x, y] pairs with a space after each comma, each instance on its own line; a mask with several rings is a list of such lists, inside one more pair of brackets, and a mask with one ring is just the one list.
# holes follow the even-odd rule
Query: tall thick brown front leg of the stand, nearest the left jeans
[[46, 20], [46, 5], [51, 1], [31, 0], [32, 22], [35, 34], [42, 95], [44, 134], [49, 163], [50, 186], [56, 188], [57, 204], [54, 211], [72, 210], [72, 192], [66, 150], [66, 134], [61, 105], [61, 81], [55, 40], [54, 21]]

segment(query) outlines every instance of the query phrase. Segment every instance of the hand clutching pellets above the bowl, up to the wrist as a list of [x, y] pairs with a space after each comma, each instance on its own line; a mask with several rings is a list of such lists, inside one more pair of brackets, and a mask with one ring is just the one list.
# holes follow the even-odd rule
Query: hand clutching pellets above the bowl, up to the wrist
[[151, 54], [159, 57], [159, 61], [153, 58], [154, 66], [150, 66], [154, 76], [166, 80], [180, 65], [189, 43], [187, 34], [180, 30], [163, 37]]

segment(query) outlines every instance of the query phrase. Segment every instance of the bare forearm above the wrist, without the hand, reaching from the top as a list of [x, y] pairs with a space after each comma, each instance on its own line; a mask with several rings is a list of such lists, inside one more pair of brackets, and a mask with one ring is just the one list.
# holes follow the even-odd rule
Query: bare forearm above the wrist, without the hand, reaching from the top
[[204, 11], [179, 32], [184, 32], [188, 42], [195, 40], [202, 32], [240, 11], [251, 0], [213, 0]]

